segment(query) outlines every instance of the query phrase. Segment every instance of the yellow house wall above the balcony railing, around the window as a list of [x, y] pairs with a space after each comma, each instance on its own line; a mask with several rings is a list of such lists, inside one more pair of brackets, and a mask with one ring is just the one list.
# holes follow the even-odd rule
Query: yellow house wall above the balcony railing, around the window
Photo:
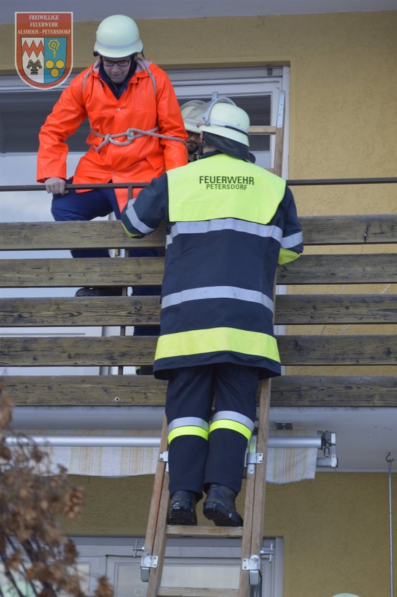
[[[74, 67], [92, 61], [97, 22], [74, 23]], [[166, 68], [291, 66], [289, 178], [395, 176], [397, 11], [138, 22]], [[13, 26], [1, 71], [15, 72]], [[0, 72], [1, 72], [0, 71]], [[296, 189], [299, 213], [392, 212], [397, 187]]]

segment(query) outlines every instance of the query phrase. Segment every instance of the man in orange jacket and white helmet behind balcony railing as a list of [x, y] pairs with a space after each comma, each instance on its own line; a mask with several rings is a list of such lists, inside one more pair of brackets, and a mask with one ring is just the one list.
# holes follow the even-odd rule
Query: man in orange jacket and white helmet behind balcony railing
[[[186, 131], [167, 74], [148, 60], [138, 27], [125, 15], [105, 18], [96, 31], [96, 63], [75, 77], [54, 105], [39, 133], [37, 181], [53, 193], [56, 221], [91, 220], [126, 206], [126, 189], [65, 192], [67, 144], [89, 119], [89, 150], [72, 178], [75, 184], [145, 183], [188, 163]], [[134, 190], [134, 196], [139, 190]], [[135, 249], [136, 256], [149, 249]], [[133, 256], [134, 256], [133, 254]], [[108, 257], [108, 251], [72, 251], [73, 257]], [[151, 289], [152, 294], [154, 289]], [[145, 289], [134, 289], [141, 294]], [[82, 288], [76, 296], [122, 294], [121, 288]], [[140, 335], [153, 333], [141, 328]], [[156, 331], [157, 332], [157, 331]]]

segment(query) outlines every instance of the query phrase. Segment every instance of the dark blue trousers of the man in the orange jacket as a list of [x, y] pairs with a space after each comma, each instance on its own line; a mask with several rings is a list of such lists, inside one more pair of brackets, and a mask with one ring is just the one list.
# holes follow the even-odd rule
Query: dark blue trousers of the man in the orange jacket
[[[71, 180], [67, 181], [72, 182]], [[51, 213], [57, 222], [88, 221], [98, 216], [108, 216], [115, 212], [120, 219], [119, 206], [114, 189], [92, 189], [76, 192], [71, 189], [66, 195], [53, 195]], [[108, 249], [74, 249], [72, 257], [109, 257]], [[130, 249], [130, 257], [153, 257], [164, 255], [162, 249]], [[161, 287], [133, 287], [134, 296], [160, 294]], [[136, 326], [135, 336], [158, 336], [160, 326]]]

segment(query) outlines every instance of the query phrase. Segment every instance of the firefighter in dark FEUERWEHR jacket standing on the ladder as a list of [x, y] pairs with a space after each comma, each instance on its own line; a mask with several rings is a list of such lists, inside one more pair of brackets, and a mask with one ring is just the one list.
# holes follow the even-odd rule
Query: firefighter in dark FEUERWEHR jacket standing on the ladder
[[302, 233], [285, 181], [249, 162], [247, 113], [216, 99], [199, 126], [202, 159], [152, 181], [122, 223], [136, 237], [167, 227], [154, 372], [168, 380], [169, 523], [197, 524], [204, 490], [204, 516], [240, 526], [256, 390], [280, 375], [275, 273], [299, 256]]

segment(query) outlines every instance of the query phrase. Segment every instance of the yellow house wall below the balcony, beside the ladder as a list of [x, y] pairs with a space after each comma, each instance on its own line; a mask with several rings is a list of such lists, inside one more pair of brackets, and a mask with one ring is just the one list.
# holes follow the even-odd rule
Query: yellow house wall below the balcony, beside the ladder
[[[71, 480], [84, 487], [86, 501], [82, 520], [67, 527], [69, 532], [144, 536], [152, 476]], [[395, 474], [393, 485], [396, 511]], [[242, 495], [238, 499], [242, 511]], [[394, 521], [396, 536], [396, 516]], [[342, 591], [389, 597], [387, 473], [317, 473], [311, 481], [268, 484], [264, 532], [285, 540], [284, 597]]]

